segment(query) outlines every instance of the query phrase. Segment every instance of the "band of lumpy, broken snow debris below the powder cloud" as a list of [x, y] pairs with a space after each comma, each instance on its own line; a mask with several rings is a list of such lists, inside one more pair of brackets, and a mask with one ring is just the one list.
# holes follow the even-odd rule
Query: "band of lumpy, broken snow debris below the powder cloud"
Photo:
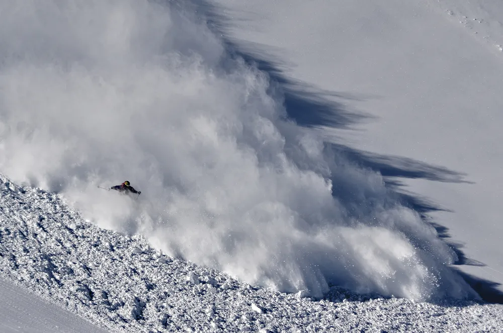
[[98, 228], [58, 195], [3, 176], [0, 193], [2, 277], [113, 332], [490, 332], [503, 325], [503, 306], [476, 301], [416, 303], [336, 287], [315, 300], [250, 286]]

